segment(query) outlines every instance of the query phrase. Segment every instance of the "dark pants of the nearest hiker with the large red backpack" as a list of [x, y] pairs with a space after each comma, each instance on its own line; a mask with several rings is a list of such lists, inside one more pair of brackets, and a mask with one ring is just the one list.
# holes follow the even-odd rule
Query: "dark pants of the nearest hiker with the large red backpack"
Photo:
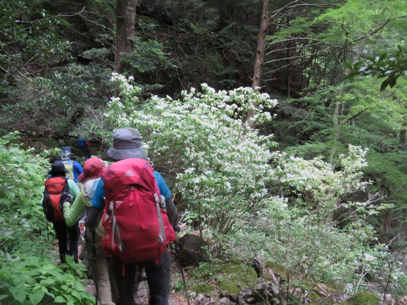
[[114, 278], [119, 289], [121, 305], [134, 305], [133, 286], [136, 276], [136, 266], [139, 270], [146, 270], [147, 281], [150, 290], [150, 305], [168, 305], [169, 289], [167, 285], [166, 266], [169, 262], [169, 254], [164, 252], [160, 264], [154, 261], [142, 263], [124, 264], [120, 257], [113, 256]]

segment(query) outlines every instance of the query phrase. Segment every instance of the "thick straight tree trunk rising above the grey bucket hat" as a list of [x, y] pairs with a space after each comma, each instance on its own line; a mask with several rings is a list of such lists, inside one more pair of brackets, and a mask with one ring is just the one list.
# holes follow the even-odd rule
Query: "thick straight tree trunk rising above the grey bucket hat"
[[121, 60], [133, 50], [132, 38], [136, 19], [136, 0], [117, 0], [116, 45], [114, 48], [114, 71], [123, 73], [125, 63]]

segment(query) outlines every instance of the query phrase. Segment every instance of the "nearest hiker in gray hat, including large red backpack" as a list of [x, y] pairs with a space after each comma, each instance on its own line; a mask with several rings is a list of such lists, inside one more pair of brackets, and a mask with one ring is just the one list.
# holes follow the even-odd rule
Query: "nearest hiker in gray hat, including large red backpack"
[[[134, 304], [133, 286], [136, 266], [138, 266], [139, 270], [142, 270], [142, 268], [146, 270], [150, 290], [150, 304], [168, 305], [169, 285], [167, 283], [170, 277], [170, 262], [167, 248], [168, 242], [175, 240], [173, 227], [177, 225], [178, 221], [177, 208], [168, 195], [170, 192], [164, 179], [162, 179], [158, 172], [153, 172], [152, 167], [146, 161], [148, 159], [147, 151], [141, 144], [141, 135], [138, 130], [122, 128], [114, 131], [113, 146], [107, 151], [107, 155], [115, 163], [109, 167], [107, 173], [103, 174], [102, 179], [99, 180], [92, 200], [92, 208], [86, 220], [86, 227], [93, 229], [98, 215], [105, 209], [102, 222], [105, 228], [109, 229], [110, 232], [113, 230], [114, 233], [108, 234], [106, 232], [106, 236], [103, 239], [103, 249], [113, 252], [114, 277], [117, 282], [122, 305]], [[138, 189], [134, 186], [133, 181], [135, 180], [133, 179], [136, 179], [137, 183], [145, 182], [145, 188]], [[126, 181], [128, 181], [127, 184], [125, 184]], [[154, 187], [147, 183], [151, 181]], [[152, 196], [152, 193], [149, 193], [152, 188], [156, 188], [154, 196]], [[162, 212], [163, 209], [158, 207], [159, 198], [157, 196], [157, 189], [159, 189], [160, 194], [163, 194], [163, 196], [168, 196], [165, 200], [166, 212]], [[127, 194], [130, 193], [127, 197], [125, 197], [126, 195], [121, 196], [121, 194], [126, 194], [126, 192], [128, 192]], [[149, 200], [155, 200], [155, 204], [153, 203], [154, 209], [156, 208], [155, 205], [157, 205], [155, 216], [153, 213], [151, 215], [148, 214], [151, 210], [147, 210], [147, 208], [152, 209]], [[133, 203], [135, 208], [130, 209]], [[108, 206], [107, 210], [105, 205]], [[121, 214], [119, 214], [118, 206], [122, 205], [125, 206], [125, 209], [122, 208]], [[161, 246], [162, 251], [150, 251], [150, 249], [143, 248], [142, 250], [131, 252], [132, 249], [130, 247], [126, 248], [125, 245], [122, 247], [123, 240], [130, 239], [137, 242], [138, 239], [144, 240], [146, 237], [149, 237], [146, 236], [147, 234], [143, 234], [143, 231], [140, 231], [140, 234], [129, 236], [129, 232], [131, 234], [132, 231], [123, 230], [116, 232], [116, 229], [119, 227], [115, 226], [112, 228], [111, 226], [114, 223], [117, 225], [119, 217], [121, 219], [126, 218], [126, 213], [130, 214], [131, 210], [134, 213], [137, 210], [136, 207], [139, 213], [136, 216], [132, 214], [132, 217], [134, 219], [138, 218], [138, 220], [133, 222], [141, 223], [141, 227], [143, 226], [146, 230], [152, 223], [158, 223], [157, 213], [160, 210], [158, 219], [160, 219], [161, 229], [159, 228], [159, 231], [160, 233], [165, 232], [165, 242]], [[171, 224], [170, 221], [172, 222]], [[159, 237], [163, 236], [159, 235]], [[154, 238], [154, 242], [157, 242], [157, 237]], [[114, 244], [113, 249], [109, 248], [110, 243], [111, 245]], [[131, 255], [128, 255], [129, 252]], [[156, 253], [160, 253], [160, 256], [155, 257]], [[140, 261], [133, 262], [136, 259], [140, 259]]]

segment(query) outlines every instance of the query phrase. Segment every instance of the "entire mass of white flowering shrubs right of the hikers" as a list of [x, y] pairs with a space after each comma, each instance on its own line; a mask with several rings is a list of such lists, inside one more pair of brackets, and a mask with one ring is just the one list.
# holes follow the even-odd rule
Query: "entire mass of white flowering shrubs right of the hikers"
[[350, 145], [334, 169], [322, 158], [271, 153], [272, 135], [259, 135], [247, 119], [253, 113], [250, 120], [259, 125], [273, 118], [266, 110], [277, 101], [267, 94], [251, 88], [216, 92], [202, 84], [201, 92], [192, 88], [176, 100], [153, 96], [140, 105], [131, 80], [112, 80], [123, 93], [111, 99], [106, 119], [114, 129], [140, 131], [184, 219], [201, 234], [222, 240], [220, 247], [236, 257], [263, 254], [287, 278], [359, 281], [355, 271], [374, 241], [365, 218], [388, 207], [365, 195], [357, 197], [361, 202], [352, 197], [369, 185], [362, 180], [366, 149]]

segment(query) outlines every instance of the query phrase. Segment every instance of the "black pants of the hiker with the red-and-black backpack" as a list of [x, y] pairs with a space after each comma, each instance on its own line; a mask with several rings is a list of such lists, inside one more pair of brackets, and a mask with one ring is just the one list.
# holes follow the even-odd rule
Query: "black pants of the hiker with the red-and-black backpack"
[[[74, 261], [78, 262], [78, 242], [79, 242], [79, 227], [75, 223], [72, 227], [67, 227], [65, 222], [54, 222], [54, 230], [56, 238], [58, 239], [58, 247], [60, 248], [61, 262], [65, 263], [65, 255], [71, 255]], [[69, 248], [68, 248], [68, 236], [69, 234]]]

